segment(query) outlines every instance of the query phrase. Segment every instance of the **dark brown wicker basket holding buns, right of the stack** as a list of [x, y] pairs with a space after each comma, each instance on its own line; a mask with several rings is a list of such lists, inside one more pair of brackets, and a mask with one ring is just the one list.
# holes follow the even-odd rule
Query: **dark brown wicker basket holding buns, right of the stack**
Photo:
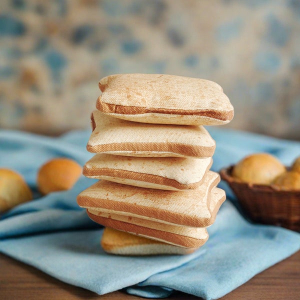
[[240, 182], [231, 176], [233, 166], [220, 170], [244, 212], [254, 222], [300, 231], [300, 190], [277, 190], [273, 186]]

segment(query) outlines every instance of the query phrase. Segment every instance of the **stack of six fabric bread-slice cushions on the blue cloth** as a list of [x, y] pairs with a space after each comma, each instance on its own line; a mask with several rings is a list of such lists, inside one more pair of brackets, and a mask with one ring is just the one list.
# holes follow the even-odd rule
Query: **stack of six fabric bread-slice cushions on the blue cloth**
[[83, 174], [101, 179], [77, 196], [105, 226], [109, 253], [185, 254], [203, 245], [225, 200], [210, 170], [215, 141], [233, 107], [215, 82], [164, 74], [116, 74], [99, 81]]

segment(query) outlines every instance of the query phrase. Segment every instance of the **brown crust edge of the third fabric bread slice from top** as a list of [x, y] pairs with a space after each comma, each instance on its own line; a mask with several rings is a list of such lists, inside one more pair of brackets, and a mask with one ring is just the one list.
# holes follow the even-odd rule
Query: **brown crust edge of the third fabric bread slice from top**
[[[206, 167], [205, 171], [207, 171], [210, 168], [211, 164], [212, 164], [212, 159], [208, 164], [208, 166]], [[101, 175], [111, 176], [111, 177], [118, 177], [122, 179], [132, 179], [132, 180], [139, 180], [139, 181], [144, 181], [149, 183], [160, 184], [164, 186], [171, 186], [177, 189], [195, 189], [201, 184], [201, 182], [204, 179], [203, 177], [201, 180], [197, 182], [184, 184], [178, 182], [175, 179], [170, 179], [159, 175], [140, 173], [140, 172], [123, 170], [123, 169], [111, 169], [108, 167], [88, 168], [86, 164], [83, 166], [82, 173], [86, 177], [96, 176], [97, 178], [101, 179]]]

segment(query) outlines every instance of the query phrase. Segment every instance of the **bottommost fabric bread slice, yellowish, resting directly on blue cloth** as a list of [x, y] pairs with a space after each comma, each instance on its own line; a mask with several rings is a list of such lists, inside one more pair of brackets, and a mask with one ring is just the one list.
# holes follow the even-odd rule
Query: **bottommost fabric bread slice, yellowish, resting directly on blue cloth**
[[184, 255], [196, 250], [196, 248], [178, 247], [108, 227], [103, 230], [101, 246], [105, 252], [117, 255]]

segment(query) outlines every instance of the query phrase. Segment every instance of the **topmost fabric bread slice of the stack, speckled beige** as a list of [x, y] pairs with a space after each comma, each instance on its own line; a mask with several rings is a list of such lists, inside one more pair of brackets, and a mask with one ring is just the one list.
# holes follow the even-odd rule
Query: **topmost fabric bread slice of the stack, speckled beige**
[[96, 108], [131, 121], [222, 125], [233, 107], [215, 82], [167, 74], [115, 74], [99, 81]]

